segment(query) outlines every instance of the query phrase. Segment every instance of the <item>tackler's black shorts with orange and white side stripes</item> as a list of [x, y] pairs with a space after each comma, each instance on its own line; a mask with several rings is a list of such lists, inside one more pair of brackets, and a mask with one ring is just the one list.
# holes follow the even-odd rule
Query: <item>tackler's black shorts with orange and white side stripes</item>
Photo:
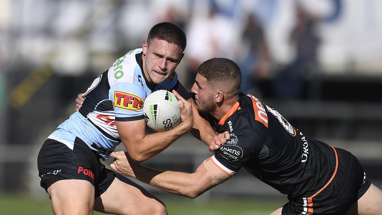
[[327, 186], [290, 201], [283, 206], [283, 215], [345, 214], [361, 198], [371, 182], [366, 178], [361, 163], [349, 151], [337, 151], [337, 171]]

